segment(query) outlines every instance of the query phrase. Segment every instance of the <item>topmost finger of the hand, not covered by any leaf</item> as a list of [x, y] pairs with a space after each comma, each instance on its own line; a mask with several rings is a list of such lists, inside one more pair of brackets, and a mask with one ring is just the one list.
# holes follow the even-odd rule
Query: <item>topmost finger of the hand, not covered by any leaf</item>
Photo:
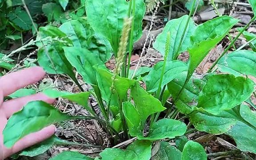
[[45, 72], [41, 67], [32, 67], [18, 72], [13, 72], [0, 78], [0, 88], [4, 96], [15, 92], [29, 84], [34, 84], [43, 79]]

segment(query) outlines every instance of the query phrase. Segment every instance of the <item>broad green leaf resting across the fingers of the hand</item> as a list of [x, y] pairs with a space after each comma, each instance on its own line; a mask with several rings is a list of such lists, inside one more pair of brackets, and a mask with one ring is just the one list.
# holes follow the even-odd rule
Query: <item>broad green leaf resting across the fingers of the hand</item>
[[8, 119], [3, 131], [4, 145], [11, 148], [18, 140], [32, 132], [40, 131], [50, 124], [70, 119], [72, 116], [59, 112], [46, 102], [29, 102], [21, 111], [14, 113]]

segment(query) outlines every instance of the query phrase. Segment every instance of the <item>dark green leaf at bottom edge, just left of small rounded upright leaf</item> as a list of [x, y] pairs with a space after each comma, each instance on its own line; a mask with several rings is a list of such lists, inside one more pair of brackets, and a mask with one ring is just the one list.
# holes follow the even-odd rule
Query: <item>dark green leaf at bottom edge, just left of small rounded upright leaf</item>
[[152, 160], [181, 160], [181, 152], [171, 144], [161, 141], [160, 148]]

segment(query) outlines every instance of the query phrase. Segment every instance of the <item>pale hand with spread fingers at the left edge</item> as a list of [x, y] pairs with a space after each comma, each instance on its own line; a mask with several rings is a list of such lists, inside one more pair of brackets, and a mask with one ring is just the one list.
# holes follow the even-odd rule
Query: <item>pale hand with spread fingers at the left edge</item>
[[23, 88], [29, 84], [34, 84], [43, 79], [45, 72], [40, 67], [33, 67], [24, 69], [22, 71], [13, 72], [0, 78], [0, 160], [4, 160], [8, 156], [28, 148], [34, 144], [37, 144], [43, 140], [46, 140], [54, 134], [56, 127], [54, 125], [48, 126], [39, 132], [32, 133], [25, 136], [18, 141], [12, 148], [6, 148], [3, 144], [3, 129], [7, 123], [7, 120], [13, 113], [20, 111], [24, 105], [29, 101], [43, 100], [49, 104], [52, 104], [55, 99], [51, 99], [42, 93], [37, 93], [32, 96], [25, 96], [22, 98], [16, 98], [8, 101], [3, 101], [4, 96], [15, 92], [16, 90]]

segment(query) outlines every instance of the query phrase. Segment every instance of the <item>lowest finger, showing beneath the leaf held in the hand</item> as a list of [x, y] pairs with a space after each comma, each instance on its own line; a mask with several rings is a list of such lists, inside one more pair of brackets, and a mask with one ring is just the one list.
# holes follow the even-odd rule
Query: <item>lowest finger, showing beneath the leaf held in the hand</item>
[[[38, 144], [48, 138], [50, 138], [56, 132], [55, 125], [50, 125], [39, 132], [31, 133], [19, 140], [11, 149], [10, 155], [19, 152], [25, 148], [28, 148], [34, 144]], [[10, 156], [8, 155], [8, 156]]]

